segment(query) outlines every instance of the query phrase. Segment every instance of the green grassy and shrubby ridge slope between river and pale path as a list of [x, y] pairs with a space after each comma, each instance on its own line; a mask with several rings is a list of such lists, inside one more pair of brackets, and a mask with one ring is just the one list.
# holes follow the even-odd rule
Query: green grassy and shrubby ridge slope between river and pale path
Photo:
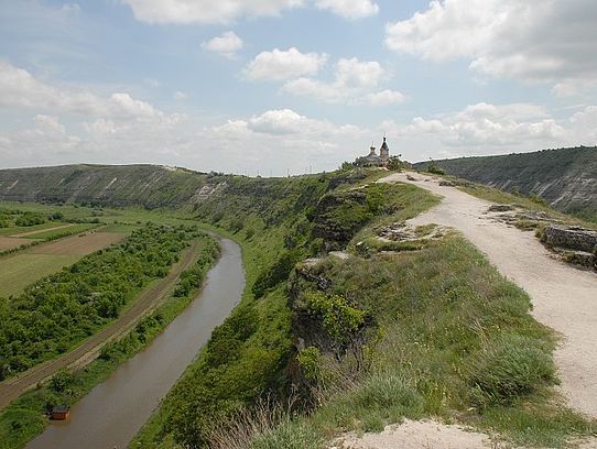
[[[304, 178], [302, 188], [314, 180]], [[427, 241], [423, 228], [413, 248], [392, 242], [397, 254], [370, 244], [380, 227], [415, 216], [435, 197], [362, 178], [329, 184], [335, 188], [318, 189], [302, 209], [292, 206], [297, 193], [290, 180], [283, 195], [280, 180], [269, 186], [271, 197], [251, 186], [220, 197], [226, 211], [209, 202], [196, 209], [242, 243], [248, 291], [132, 446], [234, 448], [248, 440], [253, 448], [323, 448], [344, 430], [381, 430], [424, 416], [514, 443], [561, 446], [590, 434], [590, 424], [551, 393], [553, 336], [530, 316], [524, 292], [473, 245], [451, 233]], [[257, 211], [243, 209], [254, 191]], [[365, 258], [298, 264], [284, 280], [296, 254], [326, 248], [360, 254], [362, 247]], [[291, 340], [304, 348], [296, 351]], [[294, 408], [258, 425], [262, 418], [252, 416], [268, 393], [281, 402], [294, 395]], [[510, 427], [511, 419], [520, 423]]]

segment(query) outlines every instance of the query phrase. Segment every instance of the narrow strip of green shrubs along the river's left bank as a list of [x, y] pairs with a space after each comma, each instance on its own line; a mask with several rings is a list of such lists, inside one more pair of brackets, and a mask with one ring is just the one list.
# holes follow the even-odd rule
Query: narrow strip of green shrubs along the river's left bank
[[76, 403], [95, 385], [105, 381], [119, 364], [148, 347], [186, 308], [219, 254], [216, 240], [203, 233], [198, 238], [202, 245], [197, 261], [181, 274], [175, 291], [178, 291], [182, 284], [186, 284], [184, 280], [188, 280], [189, 276], [194, 277], [195, 287], [188, 289], [184, 296], [170, 295], [158, 310], [141, 320], [130, 333], [104, 347], [100, 357], [85, 369], [75, 373], [63, 371], [47, 384], [40, 385], [12, 402], [0, 414], [0, 449], [22, 448], [26, 441], [43, 431], [47, 424], [44, 414], [48, 409], [56, 404]]

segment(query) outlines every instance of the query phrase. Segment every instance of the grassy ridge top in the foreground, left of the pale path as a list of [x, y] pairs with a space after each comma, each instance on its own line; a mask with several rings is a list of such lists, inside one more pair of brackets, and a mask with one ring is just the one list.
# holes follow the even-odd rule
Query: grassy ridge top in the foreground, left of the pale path
[[[360, 370], [350, 350], [339, 363], [323, 350], [324, 405], [301, 426], [333, 438], [438, 417], [540, 447], [595, 431], [554, 395], [555, 338], [531, 317], [529, 296], [466, 240], [447, 236], [421, 251], [370, 260], [328, 258], [312, 270], [330, 281], [328, 294], [365, 310], [377, 333], [360, 343]], [[314, 289], [301, 277], [291, 287], [298, 297]], [[325, 341], [319, 332], [296, 337]]]

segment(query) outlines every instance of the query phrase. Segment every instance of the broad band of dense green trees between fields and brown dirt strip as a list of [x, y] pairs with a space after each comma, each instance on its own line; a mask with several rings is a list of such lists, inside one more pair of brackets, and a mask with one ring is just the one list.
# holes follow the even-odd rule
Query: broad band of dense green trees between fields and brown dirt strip
[[135, 294], [167, 274], [197, 237], [148, 225], [122, 243], [42, 278], [0, 307], [0, 379], [66, 352], [118, 317]]

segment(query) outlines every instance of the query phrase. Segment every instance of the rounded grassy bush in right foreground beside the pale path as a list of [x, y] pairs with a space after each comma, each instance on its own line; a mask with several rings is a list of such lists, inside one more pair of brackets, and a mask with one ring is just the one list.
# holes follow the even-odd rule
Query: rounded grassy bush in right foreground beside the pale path
[[556, 383], [547, 352], [528, 337], [506, 335], [488, 343], [469, 363], [468, 383], [481, 405], [509, 405], [543, 385]]

